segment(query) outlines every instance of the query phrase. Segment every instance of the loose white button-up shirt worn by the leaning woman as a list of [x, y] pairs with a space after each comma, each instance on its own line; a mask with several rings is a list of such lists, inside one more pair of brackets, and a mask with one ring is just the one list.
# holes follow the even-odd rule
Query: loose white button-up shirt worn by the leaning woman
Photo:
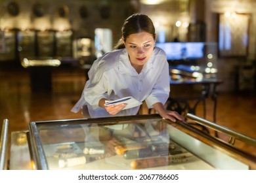
[[[83, 105], [87, 105], [92, 118], [112, 116], [105, 108], [98, 107], [102, 98], [116, 100], [132, 96], [138, 101], [146, 101], [148, 108], [152, 108], [154, 103], [165, 104], [169, 97], [169, 65], [165, 52], [158, 47], [154, 48], [139, 74], [123, 48], [96, 59], [88, 75], [89, 80], [72, 112], [78, 112]], [[129, 108], [121, 110], [116, 116], [135, 115], [138, 111], [139, 107]]]

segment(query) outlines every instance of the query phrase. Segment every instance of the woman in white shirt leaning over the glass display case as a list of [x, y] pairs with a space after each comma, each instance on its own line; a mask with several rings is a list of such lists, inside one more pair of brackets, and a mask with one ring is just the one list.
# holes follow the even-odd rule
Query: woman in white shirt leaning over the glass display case
[[72, 112], [87, 106], [92, 118], [135, 115], [139, 106], [122, 110], [126, 104], [105, 106], [106, 100], [134, 97], [145, 101], [165, 119], [183, 120], [175, 111], [166, 110], [169, 97], [169, 65], [165, 52], [155, 47], [156, 33], [152, 20], [133, 14], [125, 20], [116, 50], [96, 59], [88, 75], [81, 99]]

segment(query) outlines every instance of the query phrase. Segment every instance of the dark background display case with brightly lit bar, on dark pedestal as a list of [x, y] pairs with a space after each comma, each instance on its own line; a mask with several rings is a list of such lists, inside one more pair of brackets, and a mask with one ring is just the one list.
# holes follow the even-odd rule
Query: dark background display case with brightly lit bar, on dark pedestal
[[18, 50], [23, 67], [30, 71], [32, 92], [52, 91], [52, 67], [60, 60], [54, 58], [54, 33], [52, 31], [20, 31]]

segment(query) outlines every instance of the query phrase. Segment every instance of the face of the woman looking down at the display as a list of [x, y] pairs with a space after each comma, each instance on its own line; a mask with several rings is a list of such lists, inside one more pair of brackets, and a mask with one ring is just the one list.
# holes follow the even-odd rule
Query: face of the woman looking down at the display
[[129, 54], [131, 65], [133, 67], [143, 66], [150, 59], [155, 43], [156, 41], [150, 33], [141, 32], [129, 35], [125, 42], [125, 48]]

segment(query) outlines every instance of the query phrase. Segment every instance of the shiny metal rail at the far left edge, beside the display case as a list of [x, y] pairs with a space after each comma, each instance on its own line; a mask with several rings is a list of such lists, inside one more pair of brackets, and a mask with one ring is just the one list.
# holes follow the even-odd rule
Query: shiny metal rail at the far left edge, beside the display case
[[0, 170], [7, 170], [9, 120], [3, 120], [0, 133]]

